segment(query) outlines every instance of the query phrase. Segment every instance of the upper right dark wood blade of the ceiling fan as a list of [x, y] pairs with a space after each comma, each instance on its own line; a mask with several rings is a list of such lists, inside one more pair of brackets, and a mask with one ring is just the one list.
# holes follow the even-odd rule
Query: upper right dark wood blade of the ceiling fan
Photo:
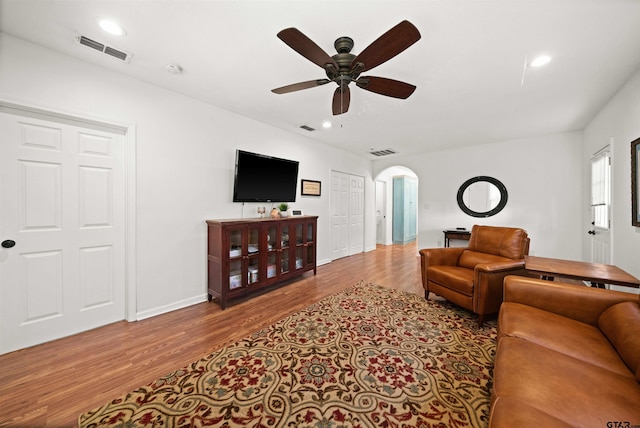
[[409, 21], [402, 21], [360, 52], [360, 55], [351, 63], [351, 69], [356, 68], [358, 63], [362, 63], [364, 68], [358, 72], [371, 70], [398, 55], [418, 40], [420, 40], [418, 29]]

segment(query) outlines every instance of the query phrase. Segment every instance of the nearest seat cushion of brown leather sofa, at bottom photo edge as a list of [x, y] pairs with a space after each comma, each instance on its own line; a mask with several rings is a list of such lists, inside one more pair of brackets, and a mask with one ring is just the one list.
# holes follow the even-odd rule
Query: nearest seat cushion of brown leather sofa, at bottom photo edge
[[491, 404], [489, 426], [491, 428], [571, 428], [573, 425], [516, 398], [499, 397]]

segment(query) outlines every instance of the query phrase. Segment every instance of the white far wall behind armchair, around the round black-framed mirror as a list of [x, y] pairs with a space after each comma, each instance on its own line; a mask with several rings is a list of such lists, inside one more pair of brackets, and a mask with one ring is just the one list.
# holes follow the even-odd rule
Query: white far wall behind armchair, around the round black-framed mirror
[[[532, 137], [374, 161], [374, 176], [392, 165], [413, 170], [418, 190], [418, 247], [442, 247], [442, 231], [474, 224], [522, 227], [530, 254], [578, 260], [582, 231], [582, 134]], [[506, 186], [504, 210], [474, 218], [458, 207], [462, 183], [487, 175]]]

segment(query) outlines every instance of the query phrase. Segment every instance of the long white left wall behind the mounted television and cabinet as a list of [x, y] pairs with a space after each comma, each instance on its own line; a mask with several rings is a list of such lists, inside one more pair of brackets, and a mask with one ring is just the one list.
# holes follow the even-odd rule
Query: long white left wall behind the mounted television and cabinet
[[369, 160], [6, 34], [0, 55], [0, 99], [136, 125], [139, 316], [206, 298], [206, 219], [258, 216], [264, 204], [231, 202], [236, 148], [298, 160], [299, 178], [323, 183], [320, 198], [298, 190], [292, 204], [319, 215], [321, 263], [331, 257], [331, 170], [364, 176], [365, 248], [375, 248]]

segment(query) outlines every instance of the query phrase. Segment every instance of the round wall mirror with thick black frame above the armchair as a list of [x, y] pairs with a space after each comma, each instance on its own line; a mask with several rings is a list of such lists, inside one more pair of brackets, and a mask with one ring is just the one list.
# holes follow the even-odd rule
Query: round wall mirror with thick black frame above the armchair
[[458, 206], [472, 217], [491, 217], [507, 205], [507, 188], [493, 177], [473, 177], [458, 189]]

